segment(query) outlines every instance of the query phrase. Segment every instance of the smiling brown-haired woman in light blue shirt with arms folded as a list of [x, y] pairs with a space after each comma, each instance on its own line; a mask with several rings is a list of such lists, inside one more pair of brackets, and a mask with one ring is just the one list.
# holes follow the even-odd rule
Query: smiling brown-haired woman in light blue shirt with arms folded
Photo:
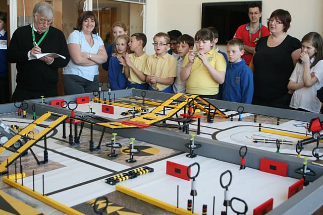
[[85, 11], [67, 40], [71, 60], [63, 71], [65, 95], [98, 90], [98, 64], [104, 63], [107, 55], [103, 41], [96, 32], [97, 27], [96, 15], [92, 11]]

